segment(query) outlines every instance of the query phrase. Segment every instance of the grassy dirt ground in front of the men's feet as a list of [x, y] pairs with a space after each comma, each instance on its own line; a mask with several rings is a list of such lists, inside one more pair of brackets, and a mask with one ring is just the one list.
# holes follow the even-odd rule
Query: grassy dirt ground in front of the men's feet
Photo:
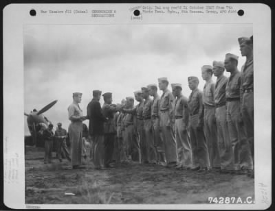
[[[153, 164], [124, 164], [96, 171], [72, 170], [55, 158], [43, 163], [43, 149], [26, 147], [25, 203], [168, 204], [208, 203], [208, 197], [252, 197], [254, 179], [246, 175], [178, 171]], [[65, 195], [73, 193], [74, 195]]]

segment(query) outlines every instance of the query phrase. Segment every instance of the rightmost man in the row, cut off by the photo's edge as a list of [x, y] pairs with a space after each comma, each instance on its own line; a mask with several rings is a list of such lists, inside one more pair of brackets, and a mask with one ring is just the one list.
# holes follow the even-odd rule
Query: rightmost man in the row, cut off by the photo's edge
[[[241, 68], [241, 114], [245, 132], [250, 144], [254, 160], [254, 64], [253, 64], [253, 36], [239, 38], [241, 55], [246, 57]], [[252, 175], [253, 176], [253, 175]]]

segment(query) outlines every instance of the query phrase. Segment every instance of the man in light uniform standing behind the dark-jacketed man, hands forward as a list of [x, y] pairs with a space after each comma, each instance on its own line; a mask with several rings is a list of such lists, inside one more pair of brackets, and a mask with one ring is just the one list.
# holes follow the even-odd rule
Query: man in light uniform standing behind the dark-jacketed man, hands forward
[[80, 109], [78, 103], [81, 102], [82, 93], [73, 93], [73, 103], [69, 105], [69, 139], [71, 142], [71, 161], [73, 169], [84, 169], [81, 165], [81, 153], [82, 153], [82, 132], [83, 132], [83, 121], [87, 119], [83, 116], [82, 110]]

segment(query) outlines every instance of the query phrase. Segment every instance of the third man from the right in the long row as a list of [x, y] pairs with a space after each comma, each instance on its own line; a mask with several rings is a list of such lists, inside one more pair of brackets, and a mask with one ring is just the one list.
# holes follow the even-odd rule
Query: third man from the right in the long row
[[214, 76], [217, 77], [214, 88], [214, 105], [221, 173], [230, 173], [234, 170], [233, 153], [228, 132], [228, 123], [226, 122], [225, 87], [228, 82], [228, 77], [223, 75], [223, 62], [213, 62], [213, 73]]

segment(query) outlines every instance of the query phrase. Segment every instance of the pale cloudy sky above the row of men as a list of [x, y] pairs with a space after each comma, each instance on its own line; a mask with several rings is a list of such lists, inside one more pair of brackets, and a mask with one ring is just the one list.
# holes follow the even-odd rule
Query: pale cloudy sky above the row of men
[[252, 36], [253, 29], [240, 24], [25, 25], [23, 32], [24, 110], [41, 110], [57, 99], [44, 115], [54, 128], [61, 122], [67, 129], [73, 92], [83, 93], [80, 108], [86, 115], [92, 90], [112, 92], [113, 103], [120, 103], [142, 86], [168, 77], [188, 97], [187, 77], [199, 77], [202, 90], [201, 66], [223, 61], [225, 53], [239, 55], [240, 70], [245, 58], [237, 38]]

